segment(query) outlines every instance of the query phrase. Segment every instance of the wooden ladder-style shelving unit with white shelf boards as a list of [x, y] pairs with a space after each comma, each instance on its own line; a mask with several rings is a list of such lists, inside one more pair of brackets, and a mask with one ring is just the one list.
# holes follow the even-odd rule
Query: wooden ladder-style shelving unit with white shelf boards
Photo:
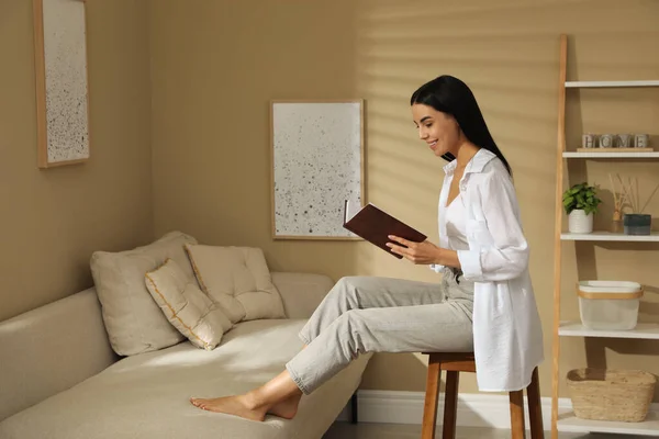
[[[648, 236], [629, 236], [608, 232], [591, 234], [572, 234], [563, 230], [562, 193], [566, 165], [570, 159], [593, 160], [634, 160], [654, 161], [659, 159], [659, 151], [568, 151], [566, 149], [566, 94], [570, 89], [579, 88], [629, 88], [659, 87], [659, 80], [633, 81], [568, 81], [567, 80], [568, 37], [560, 37], [560, 74], [558, 95], [558, 155], [556, 160], [556, 209], [555, 209], [555, 247], [554, 247], [554, 334], [552, 334], [552, 375], [551, 375], [551, 438], [558, 439], [559, 431], [570, 432], [608, 432], [639, 436], [659, 436], [659, 412], [650, 412], [643, 423], [614, 423], [580, 419], [572, 412], [562, 413], [558, 407], [558, 387], [561, 379], [559, 371], [561, 337], [604, 337], [625, 339], [659, 340], [659, 324], [640, 323], [633, 330], [592, 330], [581, 322], [565, 322], [560, 316], [561, 297], [561, 254], [563, 241], [619, 241], [652, 243], [659, 241], [659, 233]], [[655, 405], [655, 408], [657, 405]]]

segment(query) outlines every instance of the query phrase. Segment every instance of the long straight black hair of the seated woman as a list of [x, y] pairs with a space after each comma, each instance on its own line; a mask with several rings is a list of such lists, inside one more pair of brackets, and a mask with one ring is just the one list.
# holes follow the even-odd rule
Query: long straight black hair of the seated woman
[[[453, 115], [469, 142], [494, 153], [512, 175], [511, 166], [494, 143], [478, 102], [465, 82], [449, 75], [439, 76], [421, 86], [412, 94], [410, 105], [415, 103], [429, 105], [437, 111]], [[442, 158], [450, 161], [455, 159], [455, 156], [446, 153]]]

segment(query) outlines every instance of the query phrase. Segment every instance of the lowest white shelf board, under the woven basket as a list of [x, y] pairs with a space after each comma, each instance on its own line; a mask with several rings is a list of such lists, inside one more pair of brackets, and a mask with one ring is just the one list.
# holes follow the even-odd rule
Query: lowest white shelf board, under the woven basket
[[643, 423], [616, 423], [612, 420], [581, 419], [573, 412], [559, 415], [559, 431], [569, 432], [608, 432], [618, 435], [638, 435], [659, 437], [659, 413], [649, 412]]

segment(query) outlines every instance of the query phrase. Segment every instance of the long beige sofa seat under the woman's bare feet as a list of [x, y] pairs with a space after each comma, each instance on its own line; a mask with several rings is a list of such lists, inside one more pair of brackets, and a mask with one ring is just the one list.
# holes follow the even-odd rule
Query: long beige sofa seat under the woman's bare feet
[[311, 395], [292, 420], [264, 423], [205, 412], [189, 398], [247, 392], [302, 347], [305, 320], [241, 323], [206, 351], [190, 342], [125, 358], [96, 376], [0, 423], [3, 439], [320, 439], [357, 389], [360, 356]]

